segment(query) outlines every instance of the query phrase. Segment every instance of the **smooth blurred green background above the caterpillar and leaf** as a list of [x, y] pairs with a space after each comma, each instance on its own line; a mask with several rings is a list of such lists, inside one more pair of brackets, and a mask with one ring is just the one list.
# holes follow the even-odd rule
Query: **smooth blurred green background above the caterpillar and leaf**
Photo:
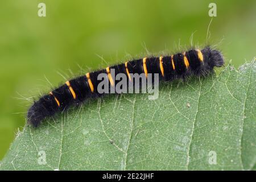
[[[40, 2], [46, 17], [38, 16]], [[142, 55], [144, 45], [152, 53], [171, 52], [178, 44], [189, 46], [193, 32], [195, 44], [204, 46], [210, 2], [217, 5], [210, 42], [236, 67], [253, 59], [255, 0], [1, 1], [0, 160], [26, 122], [26, 98], [66, 81], [59, 73], [71, 77]]]

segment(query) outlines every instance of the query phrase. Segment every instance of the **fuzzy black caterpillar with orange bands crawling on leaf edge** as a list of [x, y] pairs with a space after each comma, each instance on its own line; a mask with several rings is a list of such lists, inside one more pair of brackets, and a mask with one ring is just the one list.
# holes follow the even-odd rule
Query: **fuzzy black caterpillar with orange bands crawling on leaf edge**
[[171, 81], [179, 78], [186, 78], [190, 75], [206, 76], [213, 72], [214, 67], [224, 65], [224, 59], [220, 51], [211, 49], [209, 46], [204, 49], [189, 49], [183, 53], [176, 53], [171, 56], [144, 57], [143, 59], [127, 61], [123, 64], [113, 65], [100, 71], [86, 73], [84, 76], [73, 78], [56, 88], [49, 94], [42, 96], [30, 107], [27, 113], [28, 123], [37, 127], [43, 119], [64, 111], [69, 106], [80, 104], [88, 98], [101, 96], [98, 93], [97, 80], [100, 73], [108, 76], [110, 86], [115, 86], [118, 81], [113, 81], [110, 70], [124, 73], [128, 81], [131, 80], [131, 73], [158, 73], [159, 80]]

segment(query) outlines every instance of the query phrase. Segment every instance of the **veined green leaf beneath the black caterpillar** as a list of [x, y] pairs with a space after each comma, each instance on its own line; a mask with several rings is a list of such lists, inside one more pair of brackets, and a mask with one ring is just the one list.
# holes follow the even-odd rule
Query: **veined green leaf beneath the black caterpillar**
[[[111, 95], [18, 133], [0, 169], [255, 169], [256, 64]], [[216, 159], [216, 160], [215, 160]]]

